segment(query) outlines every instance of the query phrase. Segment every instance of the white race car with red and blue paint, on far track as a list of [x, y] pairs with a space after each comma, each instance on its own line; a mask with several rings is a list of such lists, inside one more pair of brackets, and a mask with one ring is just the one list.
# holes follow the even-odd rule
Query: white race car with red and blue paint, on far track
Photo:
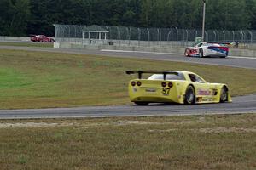
[[187, 57], [221, 57], [225, 58], [229, 54], [227, 43], [200, 42], [194, 47], [187, 47], [184, 55]]

